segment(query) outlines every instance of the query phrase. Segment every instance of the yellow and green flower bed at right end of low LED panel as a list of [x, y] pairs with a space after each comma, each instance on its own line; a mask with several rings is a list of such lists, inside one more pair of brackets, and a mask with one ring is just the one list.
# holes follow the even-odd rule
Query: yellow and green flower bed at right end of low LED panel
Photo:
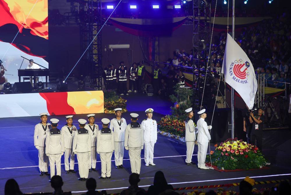
[[104, 91], [104, 113], [115, 113], [114, 109], [116, 108], [122, 108], [122, 112], [125, 113], [127, 112], [126, 102], [127, 100], [123, 99], [119, 95], [116, 95], [115, 91]]

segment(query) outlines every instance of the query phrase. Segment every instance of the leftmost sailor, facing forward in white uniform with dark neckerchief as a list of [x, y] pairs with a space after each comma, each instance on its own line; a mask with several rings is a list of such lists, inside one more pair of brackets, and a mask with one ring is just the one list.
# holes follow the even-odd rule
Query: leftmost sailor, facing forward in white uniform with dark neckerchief
[[47, 171], [49, 167], [49, 158], [45, 155], [45, 138], [50, 128], [50, 123], [47, 123], [48, 113], [40, 114], [40, 123], [34, 127], [34, 146], [38, 149], [38, 168], [40, 176], [43, 174], [49, 175]]

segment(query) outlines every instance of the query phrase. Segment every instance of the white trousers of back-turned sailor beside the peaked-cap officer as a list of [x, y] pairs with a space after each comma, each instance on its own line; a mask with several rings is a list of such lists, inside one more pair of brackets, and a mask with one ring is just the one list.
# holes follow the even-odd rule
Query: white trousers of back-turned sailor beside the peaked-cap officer
[[141, 172], [141, 147], [128, 148], [131, 172], [139, 174]]

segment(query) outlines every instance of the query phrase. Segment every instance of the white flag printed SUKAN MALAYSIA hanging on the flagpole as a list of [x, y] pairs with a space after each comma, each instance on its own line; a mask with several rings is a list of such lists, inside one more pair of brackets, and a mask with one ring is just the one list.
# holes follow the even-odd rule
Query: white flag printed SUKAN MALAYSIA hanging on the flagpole
[[258, 88], [253, 64], [229, 34], [226, 39], [222, 72], [226, 83], [234, 88], [249, 109], [252, 109]]

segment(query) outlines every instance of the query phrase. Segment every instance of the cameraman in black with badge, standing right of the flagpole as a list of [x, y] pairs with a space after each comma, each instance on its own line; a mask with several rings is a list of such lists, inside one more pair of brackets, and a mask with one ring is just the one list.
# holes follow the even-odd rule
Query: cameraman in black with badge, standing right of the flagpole
[[254, 116], [253, 112], [250, 113], [249, 120], [253, 124], [251, 130], [251, 144], [255, 145], [257, 141], [257, 147], [262, 151], [262, 138], [263, 138], [263, 123], [264, 123], [264, 107], [260, 107], [258, 115]]

